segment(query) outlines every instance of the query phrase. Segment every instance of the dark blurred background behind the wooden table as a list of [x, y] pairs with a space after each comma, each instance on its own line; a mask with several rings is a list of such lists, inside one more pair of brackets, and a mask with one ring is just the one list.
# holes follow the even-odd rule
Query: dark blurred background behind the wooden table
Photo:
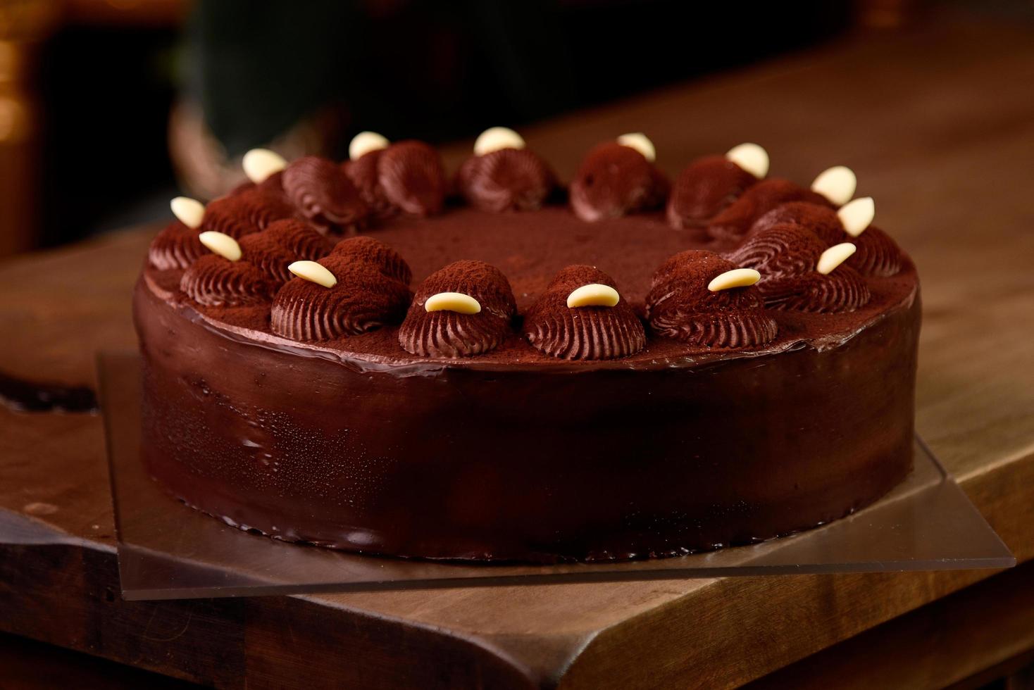
[[362, 129], [440, 143], [520, 127], [927, 10], [915, 0], [0, 0], [0, 256], [165, 217], [180, 192], [216, 196], [254, 146], [342, 158]]

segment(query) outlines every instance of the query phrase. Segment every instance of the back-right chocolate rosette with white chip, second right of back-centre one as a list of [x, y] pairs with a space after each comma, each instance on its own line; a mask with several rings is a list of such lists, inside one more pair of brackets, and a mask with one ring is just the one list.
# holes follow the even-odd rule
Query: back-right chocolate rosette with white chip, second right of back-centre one
[[668, 224], [676, 228], [703, 228], [766, 175], [768, 154], [756, 144], [740, 144], [724, 156], [705, 156], [693, 161], [671, 188]]

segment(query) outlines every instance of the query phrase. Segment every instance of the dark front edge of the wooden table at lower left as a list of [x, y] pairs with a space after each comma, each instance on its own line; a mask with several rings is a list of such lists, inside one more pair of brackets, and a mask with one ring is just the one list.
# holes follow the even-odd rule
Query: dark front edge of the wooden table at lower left
[[219, 688], [538, 685], [497, 653], [404, 622], [298, 597], [128, 602], [117, 583], [110, 552], [0, 545], [0, 627]]

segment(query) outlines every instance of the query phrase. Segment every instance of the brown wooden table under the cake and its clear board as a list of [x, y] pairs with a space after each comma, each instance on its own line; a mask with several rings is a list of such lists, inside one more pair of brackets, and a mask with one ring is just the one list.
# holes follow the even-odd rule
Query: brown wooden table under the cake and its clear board
[[[918, 430], [1021, 562], [1034, 557], [1032, 46], [1031, 27], [946, 22], [525, 132], [564, 175], [629, 130], [671, 173], [744, 139], [776, 175], [851, 165], [920, 269]], [[92, 385], [98, 348], [134, 345], [129, 290], [152, 232], [0, 268], [0, 368]], [[16, 531], [23, 543], [0, 543], [0, 629], [217, 686], [939, 687], [1034, 649], [1025, 566], [953, 596], [992, 573], [124, 602], [94, 414], [0, 408], [0, 533]]]

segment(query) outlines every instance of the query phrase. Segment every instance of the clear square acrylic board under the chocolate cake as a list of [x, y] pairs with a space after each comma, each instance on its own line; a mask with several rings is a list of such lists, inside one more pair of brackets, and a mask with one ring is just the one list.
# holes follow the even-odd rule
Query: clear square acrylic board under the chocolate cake
[[413, 561], [286, 543], [230, 527], [165, 494], [140, 460], [140, 357], [101, 353], [98, 364], [126, 599], [1015, 565], [918, 439], [915, 470], [882, 500], [823, 527], [748, 546], [668, 559], [536, 566]]

